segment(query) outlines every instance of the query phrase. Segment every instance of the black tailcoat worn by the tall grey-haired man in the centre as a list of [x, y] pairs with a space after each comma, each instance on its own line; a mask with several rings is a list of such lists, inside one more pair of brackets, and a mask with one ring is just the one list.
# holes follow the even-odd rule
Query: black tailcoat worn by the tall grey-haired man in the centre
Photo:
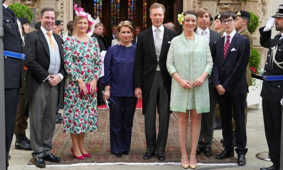
[[168, 99], [170, 101], [172, 78], [166, 68], [166, 60], [170, 42], [176, 36], [178, 36], [176, 31], [164, 27], [160, 57], [159, 61], [157, 61], [152, 27], [139, 33], [134, 66], [134, 87], [141, 87], [142, 89], [143, 114], [158, 64], [162, 72], [163, 82], [166, 86]]

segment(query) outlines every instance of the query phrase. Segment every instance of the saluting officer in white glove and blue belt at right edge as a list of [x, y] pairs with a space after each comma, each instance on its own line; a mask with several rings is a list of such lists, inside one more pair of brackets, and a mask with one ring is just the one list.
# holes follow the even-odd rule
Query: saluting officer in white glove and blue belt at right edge
[[[275, 23], [275, 29], [280, 32], [271, 39], [271, 29]], [[263, 72], [263, 84], [261, 90], [262, 111], [264, 129], [271, 167], [261, 170], [277, 170], [280, 165], [281, 144], [281, 118], [282, 118], [282, 93], [283, 93], [283, 4], [279, 6], [276, 14], [272, 15], [265, 27], [259, 29], [260, 44], [269, 48]], [[281, 104], [280, 104], [281, 101]]]

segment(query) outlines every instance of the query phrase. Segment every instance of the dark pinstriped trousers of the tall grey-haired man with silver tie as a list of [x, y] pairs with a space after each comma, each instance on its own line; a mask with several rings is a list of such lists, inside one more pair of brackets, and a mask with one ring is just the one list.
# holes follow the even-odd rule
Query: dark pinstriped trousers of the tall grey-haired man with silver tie
[[[158, 154], [165, 153], [168, 127], [170, 120], [170, 101], [168, 99], [166, 87], [163, 83], [161, 71], [156, 71], [152, 82], [149, 99], [145, 106], [144, 124], [145, 138], [147, 141], [147, 153], [153, 154], [155, 150]], [[156, 139], [156, 105], [159, 114], [159, 130]]]

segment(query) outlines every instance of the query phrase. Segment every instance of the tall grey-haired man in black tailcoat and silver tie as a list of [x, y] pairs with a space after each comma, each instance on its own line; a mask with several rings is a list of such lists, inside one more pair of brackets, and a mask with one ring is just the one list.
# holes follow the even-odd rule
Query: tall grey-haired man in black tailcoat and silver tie
[[[170, 119], [171, 76], [166, 68], [171, 40], [178, 35], [162, 25], [165, 8], [154, 3], [149, 8], [152, 27], [139, 33], [134, 66], [135, 96], [142, 100], [147, 151], [143, 159], [150, 159], [157, 151], [159, 161], [165, 160]], [[159, 114], [159, 132], [156, 139], [156, 105]]]

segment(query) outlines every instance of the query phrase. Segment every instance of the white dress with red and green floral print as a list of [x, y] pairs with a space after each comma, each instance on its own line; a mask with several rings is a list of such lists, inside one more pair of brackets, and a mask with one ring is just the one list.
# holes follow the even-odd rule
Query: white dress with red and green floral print
[[80, 42], [74, 36], [64, 43], [64, 66], [67, 72], [64, 93], [65, 133], [80, 134], [97, 130], [97, 94], [80, 96], [77, 80], [88, 84], [101, 74], [99, 45], [94, 37]]

